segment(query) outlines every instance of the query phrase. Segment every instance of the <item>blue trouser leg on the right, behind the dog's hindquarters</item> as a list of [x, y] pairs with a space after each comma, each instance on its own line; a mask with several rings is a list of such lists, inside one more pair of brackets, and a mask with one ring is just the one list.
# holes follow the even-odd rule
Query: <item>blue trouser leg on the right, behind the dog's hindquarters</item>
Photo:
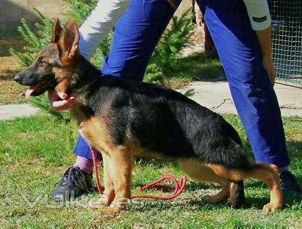
[[256, 161], [289, 165], [280, 108], [242, 0], [201, 0], [232, 97]]

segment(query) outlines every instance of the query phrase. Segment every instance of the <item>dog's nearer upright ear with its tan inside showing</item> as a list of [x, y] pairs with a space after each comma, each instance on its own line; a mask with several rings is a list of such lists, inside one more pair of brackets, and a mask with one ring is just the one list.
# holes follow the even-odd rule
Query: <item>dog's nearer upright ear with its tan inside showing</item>
[[60, 60], [63, 64], [68, 64], [73, 57], [78, 55], [80, 35], [77, 24], [74, 20], [66, 22], [58, 41]]

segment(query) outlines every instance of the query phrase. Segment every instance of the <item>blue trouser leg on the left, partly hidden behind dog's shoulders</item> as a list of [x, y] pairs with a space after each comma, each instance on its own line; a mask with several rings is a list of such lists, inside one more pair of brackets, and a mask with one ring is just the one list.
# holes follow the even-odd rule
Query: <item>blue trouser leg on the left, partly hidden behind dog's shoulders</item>
[[[103, 63], [102, 74], [141, 81], [150, 56], [174, 11], [166, 0], [131, 0], [114, 27], [111, 49]], [[89, 146], [81, 136], [73, 153], [92, 159]]]

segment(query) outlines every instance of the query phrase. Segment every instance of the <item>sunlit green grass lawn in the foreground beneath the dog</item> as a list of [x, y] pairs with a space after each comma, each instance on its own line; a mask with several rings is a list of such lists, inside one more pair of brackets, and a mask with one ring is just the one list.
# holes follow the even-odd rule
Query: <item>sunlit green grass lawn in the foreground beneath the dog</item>
[[[244, 138], [237, 116], [225, 115]], [[284, 118], [291, 170], [302, 183], [302, 118]], [[127, 226], [141, 227], [300, 227], [302, 203], [289, 203], [270, 214], [260, 208], [269, 201], [268, 188], [258, 180], [245, 182], [247, 203], [230, 209], [226, 203], [202, 204], [201, 197], [216, 193], [219, 187], [188, 179], [185, 192], [171, 201], [140, 200], [119, 214], [106, 215], [85, 208], [92, 192], [79, 202], [56, 204], [49, 197], [63, 172], [74, 163], [71, 154], [77, 132], [75, 124], [60, 122], [53, 116], [38, 115], [0, 122], [0, 227], [12, 226]], [[247, 150], [248, 147], [245, 146]], [[164, 174], [179, 178], [175, 164], [137, 159], [133, 175], [135, 187]], [[100, 169], [100, 173], [102, 169]], [[159, 193], [161, 194], [161, 193]], [[28, 205], [27, 201], [37, 201]], [[82, 206], [79, 206], [81, 205]]]

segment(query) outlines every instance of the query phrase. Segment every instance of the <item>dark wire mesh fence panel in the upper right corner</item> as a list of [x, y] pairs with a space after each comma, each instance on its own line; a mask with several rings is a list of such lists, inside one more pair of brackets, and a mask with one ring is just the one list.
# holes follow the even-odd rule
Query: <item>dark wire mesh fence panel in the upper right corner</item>
[[302, 87], [302, 0], [269, 0], [277, 80]]

